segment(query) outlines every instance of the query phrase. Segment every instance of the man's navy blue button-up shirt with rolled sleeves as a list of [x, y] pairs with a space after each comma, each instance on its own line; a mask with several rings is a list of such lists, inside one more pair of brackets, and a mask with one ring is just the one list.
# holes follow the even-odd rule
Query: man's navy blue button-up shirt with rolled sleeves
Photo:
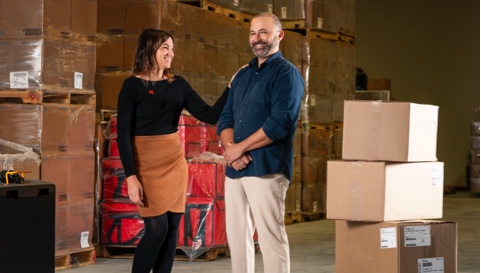
[[299, 70], [280, 51], [258, 69], [257, 58], [241, 69], [231, 83], [227, 104], [220, 116], [217, 134], [234, 129], [234, 142], [262, 128], [273, 143], [250, 151], [252, 161], [243, 170], [227, 167], [229, 178], [281, 173], [292, 180], [292, 141], [304, 93]]

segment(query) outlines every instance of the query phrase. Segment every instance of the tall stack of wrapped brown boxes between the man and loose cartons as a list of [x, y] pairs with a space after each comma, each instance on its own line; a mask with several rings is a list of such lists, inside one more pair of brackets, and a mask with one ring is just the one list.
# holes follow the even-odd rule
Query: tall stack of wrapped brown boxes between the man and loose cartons
[[[285, 32], [297, 34], [295, 40], [301, 43], [297, 52], [306, 88], [299, 120], [301, 192], [297, 196], [303, 218], [319, 219], [326, 213], [327, 160], [341, 154], [343, 102], [354, 98], [354, 1], [274, 0], [273, 12]], [[289, 41], [286, 38], [281, 42], [284, 55], [292, 52], [282, 47]]]

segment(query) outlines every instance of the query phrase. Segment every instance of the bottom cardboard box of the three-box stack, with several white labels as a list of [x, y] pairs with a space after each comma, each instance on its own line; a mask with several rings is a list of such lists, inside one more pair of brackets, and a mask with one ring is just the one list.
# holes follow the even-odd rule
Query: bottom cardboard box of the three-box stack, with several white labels
[[336, 221], [336, 273], [457, 272], [457, 223]]

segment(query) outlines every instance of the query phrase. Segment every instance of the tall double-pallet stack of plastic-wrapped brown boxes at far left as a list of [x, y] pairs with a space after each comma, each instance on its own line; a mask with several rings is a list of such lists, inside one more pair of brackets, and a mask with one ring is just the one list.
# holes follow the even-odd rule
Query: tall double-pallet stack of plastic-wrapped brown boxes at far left
[[7, 1], [1, 10], [0, 95], [36, 100], [2, 95], [0, 138], [32, 148], [41, 165], [29, 175], [56, 185], [56, 256], [92, 249], [96, 11], [92, 0]]

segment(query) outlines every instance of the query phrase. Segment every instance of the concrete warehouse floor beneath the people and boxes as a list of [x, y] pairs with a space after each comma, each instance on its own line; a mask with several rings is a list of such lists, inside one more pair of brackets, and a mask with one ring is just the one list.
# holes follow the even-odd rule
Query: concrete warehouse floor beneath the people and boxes
[[[480, 245], [479, 197], [468, 191], [444, 195], [443, 219], [458, 223], [458, 273], [479, 273]], [[333, 273], [334, 221], [315, 220], [287, 225], [291, 246], [291, 272]], [[263, 272], [262, 254], [256, 255], [256, 273]], [[127, 273], [131, 259], [97, 258], [95, 264], [58, 270], [62, 273]], [[213, 261], [175, 261], [173, 273], [226, 273], [230, 259], [218, 257]], [[371, 273], [371, 272], [359, 272]], [[454, 272], [445, 272], [454, 273]]]

